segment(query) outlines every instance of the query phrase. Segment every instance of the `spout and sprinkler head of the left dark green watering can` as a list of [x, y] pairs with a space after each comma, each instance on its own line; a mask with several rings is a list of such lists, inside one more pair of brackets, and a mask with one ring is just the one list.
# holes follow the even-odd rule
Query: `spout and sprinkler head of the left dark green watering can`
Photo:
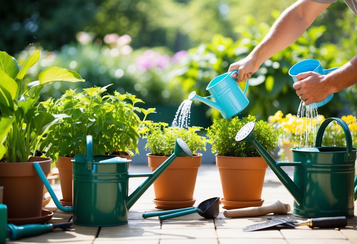
[[[142, 182], [142, 184], [128, 197], [127, 208], [130, 209], [134, 203], [141, 197], [141, 195], [154, 183], [154, 181], [169, 168], [169, 166], [174, 162], [177, 157], [185, 156], [192, 158], [193, 154], [188, 147], [188, 145], [181, 139], [177, 138], [175, 141], [174, 153], [167, 158], [164, 163], [162, 163], [157, 169], [155, 169], [151, 174], [148, 174], [148, 178]], [[129, 177], [136, 177], [140, 175], [130, 175]]]

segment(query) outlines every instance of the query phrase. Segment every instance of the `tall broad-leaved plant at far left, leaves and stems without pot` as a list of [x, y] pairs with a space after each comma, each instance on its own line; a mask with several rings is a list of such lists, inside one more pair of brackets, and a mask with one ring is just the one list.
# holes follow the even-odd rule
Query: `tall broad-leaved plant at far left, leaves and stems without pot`
[[0, 158], [6, 162], [27, 162], [36, 154], [43, 136], [65, 114], [52, 115], [35, 106], [45, 84], [53, 81], [85, 81], [74, 71], [51, 67], [39, 74], [39, 80], [24, 82], [27, 70], [40, 58], [33, 53], [21, 67], [15, 58], [0, 52]]

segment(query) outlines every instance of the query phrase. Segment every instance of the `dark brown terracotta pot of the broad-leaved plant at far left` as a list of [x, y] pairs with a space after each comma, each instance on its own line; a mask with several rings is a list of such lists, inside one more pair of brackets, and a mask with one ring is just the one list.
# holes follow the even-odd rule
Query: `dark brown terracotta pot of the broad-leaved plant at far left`
[[47, 176], [50, 158], [31, 157], [25, 163], [0, 163], [0, 185], [4, 186], [3, 202], [9, 219], [41, 217], [44, 184], [31, 162], [39, 162]]

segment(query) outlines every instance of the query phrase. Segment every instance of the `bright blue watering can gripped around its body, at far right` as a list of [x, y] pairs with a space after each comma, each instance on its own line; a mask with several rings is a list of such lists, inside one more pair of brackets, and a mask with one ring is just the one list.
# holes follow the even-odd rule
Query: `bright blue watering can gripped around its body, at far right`
[[[307, 72], [307, 71], [313, 71], [313, 72], [319, 73], [321, 75], [326, 75], [327, 73], [329, 73], [335, 69], [338, 69], [338, 68], [339, 67], [335, 67], [335, 68], [331, 68], [331, 69], [323, 69], [321, 67], [320, 61], [318, 61], [316, 59], [306, 59], [306, 60], [303, 60], [303, 61], [298, 62], [297, 64], [293, 65], [293, 67], [291, 67], [289, 70], [289, 75], [292, 77], [292, 79], [295, 83], [296, 76], [300, 73]], [[306, 107], [308, 107], [308, 108], [321, 107], [321, 106], [327, 104], [328, 102], [330, 102], [332, 97], [333, 97], [333, 93], [328, 95], [328, 97], [326, 97], [321, 102], [315, 102], [313, 104], [307, 105]]]

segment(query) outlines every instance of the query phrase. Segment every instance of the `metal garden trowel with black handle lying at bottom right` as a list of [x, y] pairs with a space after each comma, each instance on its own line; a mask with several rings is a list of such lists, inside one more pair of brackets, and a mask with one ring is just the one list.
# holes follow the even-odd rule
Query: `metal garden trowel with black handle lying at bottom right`
[[347, 218], [345, 216], [341, 217], [323, 217], [323, 218], [313, 218], [308, 219], [303, 222], [297, 222], [295, 218], [290, 217], [272, 217], [270, 221], [265, 223], [253, 224], [247, 226], [243, 231], [253, 231], [259, 229], [265, 229], [274, 226], [285, 226], [285, 227], [297, 227], [297, 226], [308, 226], [310, 228], [320, 227], [320, 228], [337, 228], [345, 227], [347, 225]]

